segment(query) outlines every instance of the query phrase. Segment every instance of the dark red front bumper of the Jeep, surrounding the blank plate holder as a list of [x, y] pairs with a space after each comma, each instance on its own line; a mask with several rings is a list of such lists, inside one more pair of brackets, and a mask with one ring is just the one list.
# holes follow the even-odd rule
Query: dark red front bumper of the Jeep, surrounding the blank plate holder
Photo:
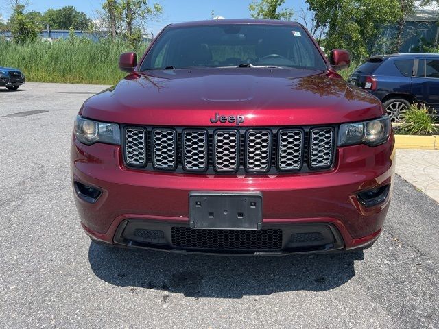
[[[86, 146], [75, 139], [71, 159], [73, 182], [102, 191], [95, 203], [86, 202], [78, 195], [75, 197], [82, 226], [94, 240], [177, 252], [327, 252], [367, 247], [379, 236], [392, 194], [394, 136], [377, 147], [339, 148], [337, 164], [324, 173], [218, 176], [137, 171], [123, 167], [120, 147]], [[390, 185], [390, 193], [381, 204], [370, 208], [361, 205], [357, 193], [383, 185]], [[209, 244], [201, 243], [200, 247], [176, 243], [172, 230], [189, 228], [190, 191], [263, 193], [262, 230], [280, 229], [281, 247], [215, 249]], [[133, 233], [134, 228], [152, 235], [140, 234], [139, 237]], [[157, 239], [154, 235], [157, 232], [150, 231], [163, 232], [163, 235], [159, 233], [163, 239]], [[291, 245], [293, 234], [316, 232], [322, 232], [322, 243], [305, 241], [311, 244]], [[192, 241], [192, 237], [189, 238]], [[196, 241], [198, 237], [193, 239]], [[205, 241], [206, 238], [201, 236], [199, 239]], [[219, 238], [214, 236], [212, 239]], [[223, 234], [221, 239], [229, 237]], [[259, 238], [250, 236], [248, 239]]]

